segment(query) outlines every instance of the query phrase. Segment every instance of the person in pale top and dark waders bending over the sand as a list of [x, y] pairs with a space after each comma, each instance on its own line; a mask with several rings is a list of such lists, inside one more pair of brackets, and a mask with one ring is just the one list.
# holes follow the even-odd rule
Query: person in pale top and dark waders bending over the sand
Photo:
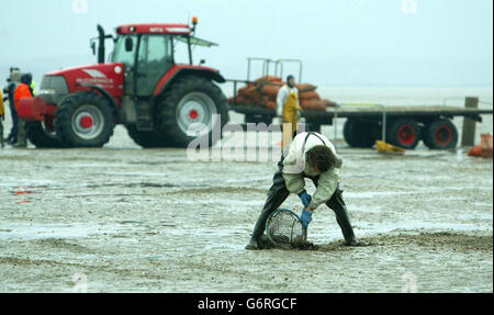
[[[336, 214], [341, 228], [345, 245], [357, 246], [357, 239], [350, 223], [350, 215], [339, 189], [339, 169], [343, 159], [336, 154], [334, 145], [327, 137], [318, 133], [297, 134], [290, 144], [287, 156], [278, 164], [278, 171], [268, 191], [268, 199], [257, 220], [254, 233], [246, 249], [260, 249], [258, 240], [265, 233], [266, 221], [290, 195], [295, 193], [304, 206], [301, 215], [306, 228], [312, 221], [313, 212], [326, 204]], [[316, 191], [311, 196], [305, 191], [305, 178], [312, 179]]]

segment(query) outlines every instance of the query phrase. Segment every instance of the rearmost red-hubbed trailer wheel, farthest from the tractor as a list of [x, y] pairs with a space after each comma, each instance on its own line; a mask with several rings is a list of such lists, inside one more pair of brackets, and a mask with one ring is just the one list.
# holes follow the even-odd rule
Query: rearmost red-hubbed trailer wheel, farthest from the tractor
[[454, 148], [458, 143], [457, 127], [450, 120], [437, 120], [424, 130], [424, 144], [431, 149]]

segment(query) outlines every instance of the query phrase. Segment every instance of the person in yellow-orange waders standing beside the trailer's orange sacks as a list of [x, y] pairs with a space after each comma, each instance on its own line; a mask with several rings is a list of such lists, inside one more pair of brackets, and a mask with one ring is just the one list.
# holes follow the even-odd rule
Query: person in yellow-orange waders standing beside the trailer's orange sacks
[[[287, 85], [278, 91], [278, 116], [283, 117], [283, 150], [290, 144], [296, 132], [299, 111], [302, 111], [299, 101], [299, 89], [295, 87], [295, 78], [287, 77]], [[289, 124], [289, 125], [287, 125]]]

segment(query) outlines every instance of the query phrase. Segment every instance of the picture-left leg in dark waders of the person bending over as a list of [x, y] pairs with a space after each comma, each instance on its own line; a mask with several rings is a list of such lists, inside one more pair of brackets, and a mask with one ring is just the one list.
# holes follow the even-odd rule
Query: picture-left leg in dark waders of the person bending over
[[266, 221], [269, 215], [273, 213], [290, 195], [284, 183], [283, 175], [281, 173], [283, 169], [283, 159], [278, 162], [278, 171], [272, 178], [272, 185], [268, 191], [268, 199], [265, 202], [265, 206], [257, 218], [256, 225], [254, 227], [252, 236], [249, 244], [245, 249], [261, 249], [259, 246], [259, 237], [265, 233]]

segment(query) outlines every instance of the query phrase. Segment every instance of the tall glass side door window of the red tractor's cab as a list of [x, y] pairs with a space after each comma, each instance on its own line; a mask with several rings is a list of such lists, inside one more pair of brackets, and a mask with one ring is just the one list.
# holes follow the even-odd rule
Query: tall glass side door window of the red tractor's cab
[[137, 65], [137, 94], [150, 95], [159, 79], [173, 65], [169, 35], [142, 35]]

